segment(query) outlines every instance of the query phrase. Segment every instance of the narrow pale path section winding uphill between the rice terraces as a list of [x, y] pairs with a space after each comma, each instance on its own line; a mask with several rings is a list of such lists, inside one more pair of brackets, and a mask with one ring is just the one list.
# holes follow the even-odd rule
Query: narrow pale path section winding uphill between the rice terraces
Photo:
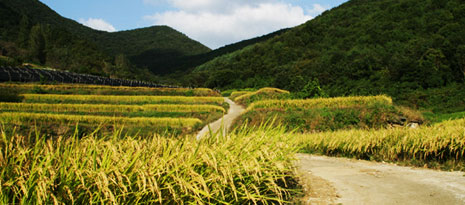
[[197, 139], [204, 137], [205, 135], [210, 133], [210, 129], [213, 133], [218, 132], [221, 128], [223, 128], [223, 133], [226, 133], [232, 126], [234, 120], [241, 115], [244, 111], [244, 107], [234, 103], [229, 98], [224, 98], [225, 102], [229, 104], [229, 111], [228, 114], [224, 115], [223, 118], [210, 123], [209, 125], [205, 126], [199, 134], [197, 134]]

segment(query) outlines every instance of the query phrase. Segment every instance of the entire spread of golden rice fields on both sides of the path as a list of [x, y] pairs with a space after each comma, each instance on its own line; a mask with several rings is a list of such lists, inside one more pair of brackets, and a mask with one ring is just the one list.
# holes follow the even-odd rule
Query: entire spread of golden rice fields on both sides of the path
[[[14, 86], [18, 102], [0, 103], [1, 204], [296, 203], [297, 153], [465, 171], [462, 115], [423, 123], [388, 96], [231, 93], [248, 105], [236, 129], [197, 140], [228, 111], [219, 95], [83, 85], [41, 85], [49, 91], [40, 94], [26, 89], [37, 85]], [[91, 91], [75, 92], [83, 87]]]

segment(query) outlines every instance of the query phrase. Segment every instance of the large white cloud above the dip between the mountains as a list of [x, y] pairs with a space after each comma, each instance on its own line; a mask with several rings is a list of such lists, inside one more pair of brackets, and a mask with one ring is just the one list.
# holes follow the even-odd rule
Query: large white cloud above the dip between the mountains
[[297, 26], [312, 19], [302, 7], [275, 0], [168, 1], [178, 10], [146, 16], [145, 19], [156, 25], [173, 27], [210, 48]]

